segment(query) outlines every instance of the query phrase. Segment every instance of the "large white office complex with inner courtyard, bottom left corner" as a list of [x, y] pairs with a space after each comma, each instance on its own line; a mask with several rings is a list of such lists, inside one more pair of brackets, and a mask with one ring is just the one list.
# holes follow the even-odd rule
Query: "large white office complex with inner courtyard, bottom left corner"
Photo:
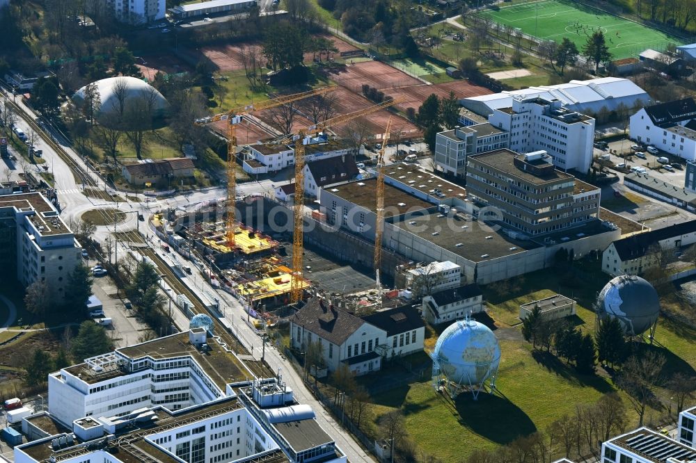
[[347, 462], [282, 377], [250, 377], [203, 327], [86, 359], [49, 375], [15, 462]]

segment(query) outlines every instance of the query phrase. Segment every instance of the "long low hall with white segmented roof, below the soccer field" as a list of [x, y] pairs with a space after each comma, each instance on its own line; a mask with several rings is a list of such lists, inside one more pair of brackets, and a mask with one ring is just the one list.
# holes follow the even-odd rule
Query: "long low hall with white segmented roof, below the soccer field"
[[[619, 105], [628, 108], [646, 106], [651, 99], [647, 92], [628, 79], [602, 77], [587, 81], [570, 81], [555, 86], [537, 86], [481, 95], [459, 100], [461, 106], [478, 115], [490, 115], [500, 108], [512, 108], [515, 99], [541, 98], [559, 100], [568, 111], [597, 114], [602, 108], [615, 111]], [[460, 113], [461, 117], [461, 113]]]

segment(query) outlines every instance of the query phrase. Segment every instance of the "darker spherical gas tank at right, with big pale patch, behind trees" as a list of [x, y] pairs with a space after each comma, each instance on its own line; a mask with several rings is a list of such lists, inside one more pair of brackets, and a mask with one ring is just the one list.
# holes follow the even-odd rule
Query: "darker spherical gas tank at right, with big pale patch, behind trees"
[[599, 318], [617, 318], [628, 336], [638, 336], [651, 330], [660, 314], [660, 298], [649, 282], [635, 275], [612, 279], [597, 298]]

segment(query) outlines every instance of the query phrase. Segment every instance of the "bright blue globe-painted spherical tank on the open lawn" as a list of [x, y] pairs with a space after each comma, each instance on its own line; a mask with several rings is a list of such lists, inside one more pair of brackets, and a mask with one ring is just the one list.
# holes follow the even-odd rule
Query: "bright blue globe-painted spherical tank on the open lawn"
[[500, 364], [498, 339], [486, 325], [475, 320], [459, 320], [438, 337], [432, 353], [433, 380], [454, 397], [470, 389], [474, 398], [488, 381], [491, 389]]

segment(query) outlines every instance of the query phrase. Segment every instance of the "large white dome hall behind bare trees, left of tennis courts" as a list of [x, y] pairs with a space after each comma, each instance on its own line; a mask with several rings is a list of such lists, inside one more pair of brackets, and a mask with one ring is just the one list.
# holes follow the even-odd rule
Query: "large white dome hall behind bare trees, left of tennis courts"
[[[97, 111], [97, 120], [106, 119], [106, 115], [123, 115], [132, 111], [152, 111], [152, 117], [163, 117], [169, 109], [169, 103], [162, 94], [149, 83], [135, 77], [109, 77], [95, 82], [101, 105]], [[86, 86], [72, 96], [72, 101], [82, 106], [85, 101]]]

